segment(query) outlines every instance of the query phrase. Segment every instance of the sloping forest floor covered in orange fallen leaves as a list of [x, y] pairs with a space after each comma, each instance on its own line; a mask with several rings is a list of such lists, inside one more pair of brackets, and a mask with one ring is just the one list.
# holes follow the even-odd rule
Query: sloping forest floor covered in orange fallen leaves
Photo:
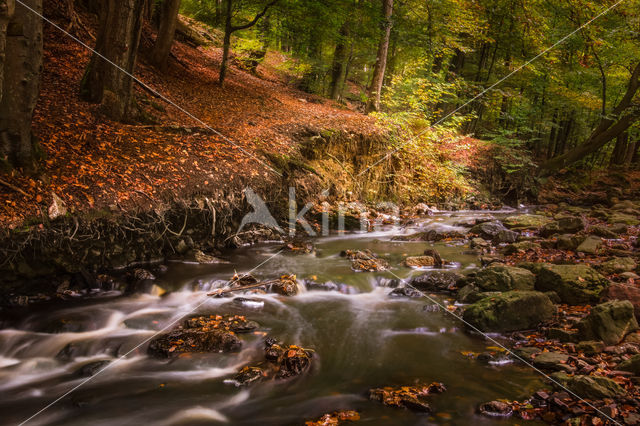
[[[45, 2], [45, 14], [66, 27], [65, 18], [57, 15], [64, 9], [57, 8], [56, 1]], [[95, 30], [94, 18], [81, 18]], [[86, 32], [78, 37], [93, 45]], [[220, 87], [221, 51], [215, 47], [194, 48], [176, 41], [167, 70], [159, 72], [145, 57], [152, 37], [145, 29], [136, 77], [201, 122], [139, 85], [138, 102], [158, 125], [108, 120], [99, 105], [79, 98], [91, 52], [45, 24], [44, 70], [33, 132], [46, 158], [36, 176], [16, 171], [2, 177], [2, 227], [13, 229], [27, 218], [46, 221], [52, 193], [74, 213], [153, 208], [156, 201], [218, 193], [232, 184], [264, 185], [278, 176], [261, 152], [295, 150], [301, 131], [379, 132], [375, 119], [300, 92], [267, 67], [259, 67], [257, 75], [232, 67]], [[207, 131], [207, 126], [232, 143]]]

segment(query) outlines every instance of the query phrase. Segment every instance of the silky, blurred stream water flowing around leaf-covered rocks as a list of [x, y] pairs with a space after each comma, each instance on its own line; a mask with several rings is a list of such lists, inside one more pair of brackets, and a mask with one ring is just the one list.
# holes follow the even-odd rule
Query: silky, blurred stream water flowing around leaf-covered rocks
[[[76, 386], [28, 424], [295, 425], [337, 409], [356, 409], [360, 423], [372, 425], [496, 423], [475, 414], [477, 405], [525, 398], [539, 388], [540, 377], [517, 363], [487, 365], [469, 359], [463, 351], [486, 351], [491, 342], [466, 332], [459, 320], [434, 309], [428, 299], [389, 297], [391, 289], [380, 284], [392, 274], [353, 272], [339, 256], [341, 250], [369, 248], [389, 261], [393, 273], [417, 274], [400, 266], [403, 255], [421, 254], [429, 244], [391, 237], [415, 228], [457, 229], [454, 223], [477, 214], [486, 213], [435, 216], [414, 229], [320, 238], [315, 254], [282, 254], [253, 272], [259, 279], [295, 273], [299, 279], [333, 281], [346, 285], [341, 291], [251, 295], [251, 303], [206, 297], [216, 280], [249, 271], [279, 249], [263, 244], [228, 253], [229, 264], [170, 263], [157, 281], [171, 289], [162, 297], [104, 295], [33, 310], [0, 330], [0, 424], [20, 423]], [[463, 272], [477, 263], [477, 256], [461, 244], [434, 246]], [[246, 315], [269, 336], [314, 349], [312, 370], [284, 382], [248, 388], [230, 384], [239, 368], [263, 359], [261, 333], [242, 335], [239, 353], [149, 358], [141, 342], [198, 305], [195, 313]], [[103, 365], [110, 366], [88, 375], [90, 367], [95, 373]], [[429, 415], [367, 400], [369, 388], [417, 380], [447, 387], [429, 397]]]

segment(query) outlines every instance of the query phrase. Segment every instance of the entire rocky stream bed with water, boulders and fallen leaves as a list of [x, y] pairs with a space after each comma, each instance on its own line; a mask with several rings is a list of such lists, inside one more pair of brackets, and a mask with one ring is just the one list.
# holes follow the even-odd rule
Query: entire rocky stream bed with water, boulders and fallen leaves
[[421, 207], [14, 295], [0, 408], [19, 422], [95, 375], [40, 421], [636, 424], [639, 218], [629, 200]]

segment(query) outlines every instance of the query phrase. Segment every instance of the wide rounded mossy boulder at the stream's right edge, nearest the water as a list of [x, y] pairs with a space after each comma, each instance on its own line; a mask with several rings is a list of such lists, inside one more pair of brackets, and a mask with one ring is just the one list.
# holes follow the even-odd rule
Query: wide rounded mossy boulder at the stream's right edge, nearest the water
[[536, 327], [553, 318], [555, 307], [537, 291], [508, 291], [467, 307], [463, 319], [481, 331], [515, 331]]

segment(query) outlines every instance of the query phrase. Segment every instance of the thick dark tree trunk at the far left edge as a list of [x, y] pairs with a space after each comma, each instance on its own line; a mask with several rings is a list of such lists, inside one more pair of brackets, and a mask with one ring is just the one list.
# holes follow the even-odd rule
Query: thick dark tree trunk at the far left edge
[[[42, 0], [24, 0], [42, 13]], [[42, 18], [13, 1], [0, 0], [0, 157], [8, 166], [35, 168], [37, 143], [31, 118], [42, 73]], [[4, 47], [4, 49], [2, 49]]]

